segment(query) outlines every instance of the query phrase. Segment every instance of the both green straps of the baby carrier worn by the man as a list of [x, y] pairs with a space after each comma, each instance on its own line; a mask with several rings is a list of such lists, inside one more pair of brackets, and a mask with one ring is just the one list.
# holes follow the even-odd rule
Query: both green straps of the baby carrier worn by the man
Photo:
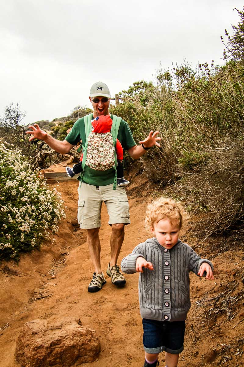
[[[90, 113], [90, 115], [86, 115], [84, 116], [84, 123], [85, 123], [85, 131], [86, 131], [86, 143], [85, 145], [81, 145], [78, 149], [79, 149], [79, 152], [82, 148], [83, 150], [83, 157], [82, 157], [82, 169], [83, 169], [83, 172], [82, 172], [82, 177], [81, 177], [81, 181], [82, 181], [82, 178], [83, 178], [83, 174], [84, 174], [84, 170], [85, 170], [85, 163], [86, 163], [86, 150], [87, 150], [87, 137], [88, 135], [90, 134], [91, 132], [91, 120], [92, 120], [92, 117], [93, 117], [93, 113]], [[121, 117], [117, 117], [115, 115], [113, 115], [113, 123], [112, 123], [112, 127], [111, 127], [111, 134], [112, 134], [112, 137], [113, 137], [113, 146], [114, 146], [114, 150], [115, 150], [115, 179], [113, 181], [113, 190], [116, 190], [116, 186], [117, 186], [117, 155], [116, 155], [116, 142], [117, 142], [117, 136], [118, 136], [118, 132], [119, 132], [119, 127], [120, 127], [120, 122], [121, 122], [122, 118]], [[78, 149], [77, 149], [77, 152], [78, 152]]]

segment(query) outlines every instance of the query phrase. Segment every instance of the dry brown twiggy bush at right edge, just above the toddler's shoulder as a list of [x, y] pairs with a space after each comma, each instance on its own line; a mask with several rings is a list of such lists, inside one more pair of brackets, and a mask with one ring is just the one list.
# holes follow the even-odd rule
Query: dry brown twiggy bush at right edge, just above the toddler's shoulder
[[206, 166], [185, 175], [180, 191], [193, 211], [207, 211], [200, 215], [199, 231], [243, 235], [244, 142], [231, 137], [228, 149], [212, 151]]

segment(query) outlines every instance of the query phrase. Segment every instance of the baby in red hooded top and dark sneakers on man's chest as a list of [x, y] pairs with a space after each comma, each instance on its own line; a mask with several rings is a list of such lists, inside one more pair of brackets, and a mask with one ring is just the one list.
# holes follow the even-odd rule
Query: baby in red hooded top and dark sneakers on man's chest
[[[113, 121], [109, 115], [96, 117], [94, 120], [91, 120], [91, 124], [93, 127], [91, 131], [101, 132], [101, 133], [110, 132], [112, 123]], [[116, 156], [117, 156], [117, 185], [118, 186], [128, 186], [129, 181], [127, 181], [124, 178], [124, 170], [122, 166], [124, 152], [123, 152], [122, 145], [118, 139], [116, 142]], [[66, 172], [68, 176], [74, 177], [75, 174], [82, 172], [82, 158], [83, 158], [83, 154], [80, 157], [79, 163], [75, 164], [72, 168], [66, 167]]]

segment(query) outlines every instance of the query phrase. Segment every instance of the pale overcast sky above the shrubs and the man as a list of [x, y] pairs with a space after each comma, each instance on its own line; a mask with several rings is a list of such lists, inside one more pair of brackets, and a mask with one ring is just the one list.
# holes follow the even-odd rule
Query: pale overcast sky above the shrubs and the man
[[91, 84], [112, 97], [160, 65], [222, 64], [224, 30], [240, 0], [8, 0], [0, 8], [0, 115], [11, 102], [25, 124], [89, 106]]

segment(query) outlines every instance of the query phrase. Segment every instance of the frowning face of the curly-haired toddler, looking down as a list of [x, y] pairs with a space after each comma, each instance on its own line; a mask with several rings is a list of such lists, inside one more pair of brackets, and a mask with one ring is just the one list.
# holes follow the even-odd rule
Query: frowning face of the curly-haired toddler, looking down
[[158, 242], [164, 248], [172, 248], [179, 239], [179, 224], [171, 224], [168, 218], [160, 219], [158, 223], [154, 223], [151, 227]]

